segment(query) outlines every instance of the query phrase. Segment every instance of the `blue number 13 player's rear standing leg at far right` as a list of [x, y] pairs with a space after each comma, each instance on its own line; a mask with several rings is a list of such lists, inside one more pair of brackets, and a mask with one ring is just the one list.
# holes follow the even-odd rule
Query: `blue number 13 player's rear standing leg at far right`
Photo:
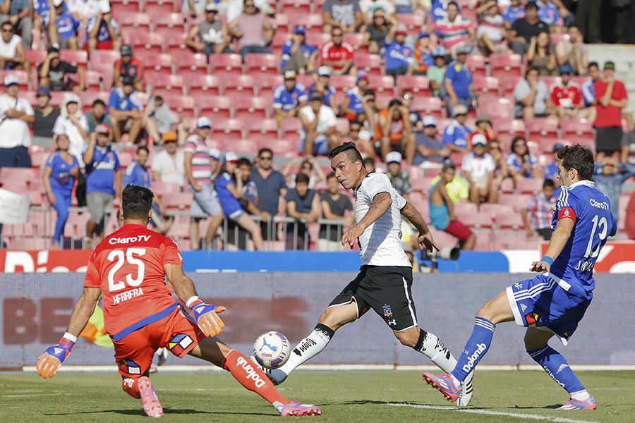
[[567, 360], [548, 345], [552, 336], [552, 332], [528, 328], [525, 333], [525, 348], [528, 355], [569, 393], [569, 400], [559, 410], [595, 410], [598, 404], [580, 383]]

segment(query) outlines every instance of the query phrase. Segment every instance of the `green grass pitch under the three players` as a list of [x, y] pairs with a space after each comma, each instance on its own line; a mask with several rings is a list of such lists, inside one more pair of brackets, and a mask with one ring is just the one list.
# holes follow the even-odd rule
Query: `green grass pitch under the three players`
[[[322, 407], [318, 422], [635, 422], [635, 372], [580, 372], [598, 410], [552, 410], [567, 395], [544, 372], [477, 372], [468, 410], [457, 412], [418, 372], [297, 372], [280, 390]], [[152, 375], [169, 422], [277, 422], [264, 400], [226, 373]], [[391, 403], [409, 406], [390, 405]], [[298, 419], [300, 417], [294, 417]], [[0, 373], [0, 422], [137, 422], [140, 402], [117, 374]]]

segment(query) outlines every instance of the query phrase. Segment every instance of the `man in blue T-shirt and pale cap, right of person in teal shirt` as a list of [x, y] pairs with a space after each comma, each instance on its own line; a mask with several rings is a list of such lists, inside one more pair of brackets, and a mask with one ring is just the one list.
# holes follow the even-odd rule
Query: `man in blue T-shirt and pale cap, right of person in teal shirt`
[[454, 116], [452, 109], [459, 104], [469, 110], [474, 109], [474, 88], [472, 86], [472, 73], [466, 65], [469, 46], [459, 46], [456, 49], [456, 60], [449, 63], [445, 71], [443, 82], [447, 94], [447, 112]]

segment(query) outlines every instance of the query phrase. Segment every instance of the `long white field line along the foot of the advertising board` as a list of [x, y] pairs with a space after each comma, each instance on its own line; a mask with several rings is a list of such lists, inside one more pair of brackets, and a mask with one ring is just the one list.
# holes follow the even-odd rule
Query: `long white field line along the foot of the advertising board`
[[[618, 370], [635, 370], [635, 366], [610, 366], [605, 364], [598, 365], [571, 365], [571, 368], [577, 372], [588, 371], [618, 371]], [[58, 372], [116, 372], [116, 366], [62, 366]], [[299, 367], [300, 370], [321, 370], [321, 371], [373, 371], [373, 372], [385, 372], [390, 370], [397, 370], [399, 372], [438, 372], [439, 369], [436, 366], [406, 366], [393, 364], [303, 364]], [[521, 365], [492, 365], [482, 364], [478, 366], [478, 371], [512, 371], [512, 370], [540, 370], [543, 369], [538, 364], [521, 364]], [[35, 372], [35, 366], [23, 366], [23, 372]], [[159, 367], [159, 373], [169, 372], [221, 372], [222, 369], [213, 365], [181, 365], [181, 364], [167, 364]]]

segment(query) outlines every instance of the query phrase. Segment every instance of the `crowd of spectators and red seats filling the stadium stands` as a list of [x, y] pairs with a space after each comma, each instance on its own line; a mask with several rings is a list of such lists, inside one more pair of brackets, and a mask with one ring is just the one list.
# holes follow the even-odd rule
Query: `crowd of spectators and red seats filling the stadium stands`
[[34, 219], [4, 239], [90, 247], [134, 183], [184, 249], [338, 250], [351, 193], [324, 157], [344, 141], [465, 249], [548, 239], [552, 156], [579, 142], [635, 238], [627, 91], [569, 3], [6, 0], [0, 182]]

